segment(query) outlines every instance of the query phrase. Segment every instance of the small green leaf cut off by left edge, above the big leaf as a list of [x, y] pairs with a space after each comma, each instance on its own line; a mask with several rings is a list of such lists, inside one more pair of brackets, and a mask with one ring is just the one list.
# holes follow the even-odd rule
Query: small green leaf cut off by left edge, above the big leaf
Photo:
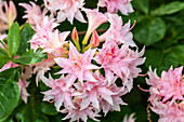
[[9, 62], [9, 55], [0, 48], [0, 69]]

